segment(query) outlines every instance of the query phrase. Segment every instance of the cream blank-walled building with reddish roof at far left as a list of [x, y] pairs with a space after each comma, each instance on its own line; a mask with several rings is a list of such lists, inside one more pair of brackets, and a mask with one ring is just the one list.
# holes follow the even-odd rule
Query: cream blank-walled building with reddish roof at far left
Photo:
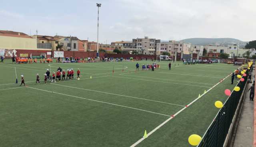
[[37, 49], [36, 38], [15, 31], [0, 31], [0, 49]]

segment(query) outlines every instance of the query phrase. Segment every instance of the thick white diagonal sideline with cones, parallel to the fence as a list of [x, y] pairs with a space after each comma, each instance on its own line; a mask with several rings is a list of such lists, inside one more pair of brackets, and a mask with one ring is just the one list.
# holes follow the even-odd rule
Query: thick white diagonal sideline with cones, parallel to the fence
[[[230, 76], [231, 74], [229, 74], [228, 76]], [[225, 80], [226, 78], [228, 78], [228, 76], [226, 76], [223, 80]], [[223, 81], [222, 80], [222, 81]], [[150, 131], [148, 133], [148, 137], [154, 133], [156, 130], [158, 130], [160, 127], [162, 127], [164, 124], [166, 124], [167, 122], [169, 122], [170, 120], [172, 120], [175, 116], [177, 116], [178, 114], [180, 114], [183, 110], [185, 110], [186, 108], [188, 108], [188, 106], [192, 105], [194, 102], [196, 102], [199, 98], [201, 98], [202, 96], [204, 96], [205, 94], [207, 94], [210, 90], [212, 90], [214, 87], [216, 87], [218, 84], [220, 84], [220, 82], [218, 82], [217, 84], [215, 84], [214, 86], [212, 86], [212, 88], [208, 89], [204, 94], [202, 94], [200, 97], [196, 98], [195, 100], [193, 100], [192, 102], [190, 102], [186, 107], [182, 108], [181, 110], [179, 110], [178, 112], [176, 112], [176, 114], [174, 114], [172, 117], [168, 118], [166, 121], [164, 121], [163, 123], [161, 123], [160, 125], [158, 125], [156, 128], [154, 128], [152, 131]], [[130, 147], [135, 147], [136, 145], [138, 145], [139, 143], [141, 143], [145, 138], [142, 137], [141, 139], [139, 139], [136, 143], [132, 144]]]

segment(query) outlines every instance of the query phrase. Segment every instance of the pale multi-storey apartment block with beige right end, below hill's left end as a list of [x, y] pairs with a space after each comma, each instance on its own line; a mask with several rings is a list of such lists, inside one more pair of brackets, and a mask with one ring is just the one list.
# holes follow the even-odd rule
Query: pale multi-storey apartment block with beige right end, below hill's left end
[[170, 40], [169, 42], [157, 43], [156, 55], [161, 55], [163, 52], [168, 52], [170, 55], [175, 53], [190, 54], [191, 45], [180, 41]]

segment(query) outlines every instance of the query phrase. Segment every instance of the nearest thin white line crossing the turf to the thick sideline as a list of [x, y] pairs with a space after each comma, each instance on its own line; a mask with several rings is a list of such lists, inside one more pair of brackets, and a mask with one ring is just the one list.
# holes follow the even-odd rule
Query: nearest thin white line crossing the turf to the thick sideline
[[42, 90], [42, 89], [33, 88], [33, 87], [28, 87], [28, 88], [41, 90], [41, 91], [45, 91], [45, 92], [50, 92], [50, 93], [54, 93], [54, 94], [60, 94], [60, 95], [64, 95], [64, 96], [71, 96], [71, 97], [74, 97], [74, 98], [81, 98], [81, 99], [84, 99], [84, 100], [90, 100], [90, 101], [100, 102], [100, 103], [104, 103], [104, 104], [110, 104], [110, 105], [114, 105], [114, 106], [120, 106], [120, 107], [124, 107], [124, 108], [130, 108], [130, 109], [134, 109], [134, 110], [140, 110], [140, 111], [144, 111], [144, 112], [149, 112], [149, 113], [153, 113], [153, 114], [159, 114], [159, 115], [162, 115], [162, 116], [170, 117], [169, 115], [166, 115], [166, 114], [160, 114], [160, 113], [156, 113], [156, 112], [152, 112], [152, 111], [148, 111], [148, 110], [137, 109], [137, 108], [133, 108], [133, 107], [129, 107], [129, 106], [122, 106], [122, 105], [118, 105], [118, 104], [102, 102], [102, 101], [99, 101], [99, 100], [92, 100], [92, 99], [88, 99], [88, 98], [82, 98], [82, 97], [78, 97], [78, 96], [72, 96], [72, 95], [63, 94], [63, 93], [58, 93], [58, 92], [53, 92], [53, 91], [48, 91], [48, 90]]

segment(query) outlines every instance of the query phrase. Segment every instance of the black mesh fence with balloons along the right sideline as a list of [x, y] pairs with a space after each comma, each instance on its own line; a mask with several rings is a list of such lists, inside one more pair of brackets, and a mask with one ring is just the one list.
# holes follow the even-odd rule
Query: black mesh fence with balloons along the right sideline
[[242, 92], [244, 91], [248, 78], [248, 72], [249, 70], [246, 71], [247, 75], [242, 77], [244, 78], [244, 82], [240, 81], [237, 85], [240, 87], [240, 90], [238, 92], [232, 91], [223, 108], [220, 109], [214, 121], [206, 131], [198, 147], [223, 147], [224, 141], [228, 134], [228, 129], [236, 112]]

